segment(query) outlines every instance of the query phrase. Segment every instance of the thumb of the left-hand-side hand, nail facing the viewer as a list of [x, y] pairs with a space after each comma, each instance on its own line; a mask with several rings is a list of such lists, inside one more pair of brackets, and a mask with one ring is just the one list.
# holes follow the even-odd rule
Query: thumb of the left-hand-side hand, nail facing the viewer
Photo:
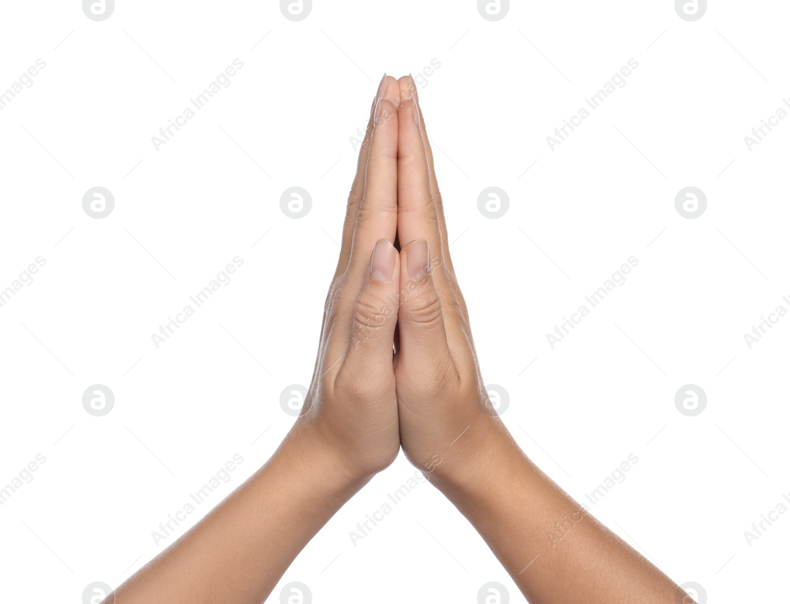
[[393, 375], [400, 257], [389, 240], [376, 242], [362, 293], [356, 300], [351, 342], [341, 372], [376, 382]]

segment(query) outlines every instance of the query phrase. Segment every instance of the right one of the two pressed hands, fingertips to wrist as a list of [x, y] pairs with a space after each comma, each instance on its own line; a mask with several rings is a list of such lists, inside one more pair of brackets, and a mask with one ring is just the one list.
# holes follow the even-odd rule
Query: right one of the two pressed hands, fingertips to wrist
[[395, 363], [401, 446], [437, 485], [452, 484], [487, 456], [487, 444], [512, 440], [502, 441], [506, 428], [491, 412], [480, 376], [416, 87], [411, 77], [399, 83], [397, 232], [408, 242], [401, 249]]

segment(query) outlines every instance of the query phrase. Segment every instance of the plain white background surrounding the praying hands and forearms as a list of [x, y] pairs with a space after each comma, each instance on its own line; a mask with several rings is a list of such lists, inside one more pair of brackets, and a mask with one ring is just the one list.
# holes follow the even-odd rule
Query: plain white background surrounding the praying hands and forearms
[[[634, 453], [592, 513], [711, 602], [776, 601], [790, 515], [751, 545], [743, 533], [790, 491], [790, 318], [751, 349], [743, 334], [790, 308], [790, 120], [751, 151], [743, 137], [790, 94], [788, 12], [732, 0], [687, 22], [668, 0], [513, 2], [491, 22], [468, 1], [316, 0], [292, 22], [277, 2], [137, 0], [94, 22], [74, 0], [4, 3], [0, 90], [46, 68], [0, 111], [0, 289], [46, 265], [0, 308], [0, 486], [47, 459], [0, 507], [5, 598], [77, 604], [88, 583], [119, 585], [235, 453], [177, 534], [268, 459], [293, 421], [280, 392], [312, 372], [349, 138], [384, 71], [437, 59], [419, 98], [483, 376], [510, 394], [502, 419], [580, 501]], [[237, 58], [157, 151], [151, 137]], [[629, 59], [626, 85], [552, 151], [546, 137]], [[115, 197], [101, 220], [81, 202], [96, 186]], [[293, 186], [312, 198], [300, 220], [280, 210]], [[477, 208], [490, 186], [510, 197], [497, 220]], [[688, 186], [708, 200], [694, 220], [675, 210]], [[156, 349], [151, 334], [237, 255], [231, 283]], [[552, 349], [547, 334], [632, 255], [625, 285]], [[82, 407], [95, 383], [115, 393], [104, 417]], [[688, 383], [708, 397], [696, 417], [675, 408]], [[401, 456], [374, 478], [280, 584], [314, 602], [475, 602], [498, 581], [523, 602], [430, 485], [352, 545], [412, 472]]]

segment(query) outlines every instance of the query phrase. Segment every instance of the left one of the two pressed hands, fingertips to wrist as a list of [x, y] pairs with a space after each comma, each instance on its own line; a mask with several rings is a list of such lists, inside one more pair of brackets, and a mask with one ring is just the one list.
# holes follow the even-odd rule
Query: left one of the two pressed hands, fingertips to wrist
[[294, 428], [309, 428], [359, 481], [389, 466], [401, 446], [393, 372], [398, 94], [395, 78], [382, 78], [348, 196], [306, 411]]

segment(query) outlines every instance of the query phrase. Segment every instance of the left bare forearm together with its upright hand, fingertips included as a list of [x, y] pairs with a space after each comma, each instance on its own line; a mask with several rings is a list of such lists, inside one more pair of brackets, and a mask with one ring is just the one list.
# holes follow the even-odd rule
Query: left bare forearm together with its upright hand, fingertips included
[[371, 107], [302, 414], [265, 466], [108, 604], [259, 604], [326, 521], [397, 456], [397, 93], [397, 81], [384, 77]]

